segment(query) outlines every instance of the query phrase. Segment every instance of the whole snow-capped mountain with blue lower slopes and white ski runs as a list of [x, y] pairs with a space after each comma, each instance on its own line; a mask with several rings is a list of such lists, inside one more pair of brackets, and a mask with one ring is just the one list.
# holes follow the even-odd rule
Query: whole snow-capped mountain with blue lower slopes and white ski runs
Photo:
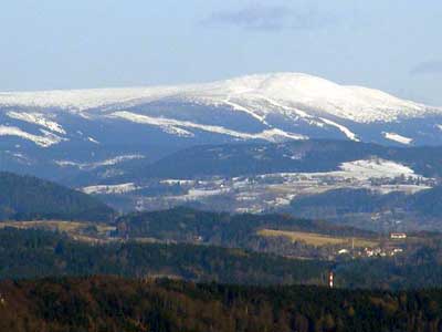
[[436, 145], [441, 128], [440, 107], [298, 73], [182, 86], [0, 93], [2, 167], [42, 159], [46, 168], [84, 167], [242, 141]]

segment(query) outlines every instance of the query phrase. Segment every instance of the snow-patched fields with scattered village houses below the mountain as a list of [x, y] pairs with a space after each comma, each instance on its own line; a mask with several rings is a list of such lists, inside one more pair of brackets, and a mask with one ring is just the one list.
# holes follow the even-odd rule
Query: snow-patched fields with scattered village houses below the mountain
[[[429, 189], [433, 179], [415, 174], [410, 167], [380, 158], [343, 163], [339, 170], [327, 173], [275, 173], [240, 177], [162, 179], [154, 186], [179, 186], [181, 194], [144, 196], [137, 189], [149, 184], [122, 184], [86, 187], [90, 194], [130, 194], [134, 208], [158, 209], [182, 204], [202, 204], [234, 212], [262, 212], [287, 207], [297, 197], [339, 188], [367, 188], [381, 195], [398, 191], [415, 194]], [[167, 191], [166, 191], [167, 193]]]

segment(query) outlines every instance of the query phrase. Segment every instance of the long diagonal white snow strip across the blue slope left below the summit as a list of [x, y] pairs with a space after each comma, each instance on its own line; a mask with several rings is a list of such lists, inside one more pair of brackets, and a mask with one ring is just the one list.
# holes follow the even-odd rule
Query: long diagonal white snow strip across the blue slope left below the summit
[[224, 128], [221, 126], [203, 125], [203, 124], [192, 123], [192, 122], [188, 122], [188, 121], [178, 121], [178, 120], [166, 118], [166, 117], [152, 117], [152, 116], [136, 114], [136, 113], [126, 112], [126, 111], [115, 112], [108, 116], [124, 118], [124, 120], [135, 122], [135, 123], [158, 126], [169, 134], [176, 134], [176, 135], [180, 135], [180, 136], [193, 135], [192, 133], [182, 128], [182, 127], [185, 127], [187, 129], [199, 129], [199, 131], [204, 131], [204, 132], [210, 132], [210, 133], [215, 133], [215, 134], [221, 134], [221, 135], [233, 136], [233, 137], [236, 137], [240, 139], [266, 139], [266, 141], [277, 142], [281, 137], [290, 138], [290, 139], [306, 139], [307, 138], [306, 136], [303, 136], [303, 135], [286, 133], [286, 132], [283, 132], [283, 131], [280, 131], [276, 128], [263, 131], [257, 134], [250, 134], [250, 133], [243, 133], [243, 132], [228, 129], [228, 128]]

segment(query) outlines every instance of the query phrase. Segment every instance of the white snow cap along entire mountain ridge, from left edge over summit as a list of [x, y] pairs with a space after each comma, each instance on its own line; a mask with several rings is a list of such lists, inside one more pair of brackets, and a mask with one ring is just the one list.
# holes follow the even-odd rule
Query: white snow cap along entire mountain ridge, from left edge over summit
[[[272, 113], [332, 116], [358, 123], [393, 122], [401, 117], [442, 114], [441, 108], [403, 101], [378, 90], [346, 86], [299, 73], [243, 76], [207, 84], [166, 87], [136, 87], [77, 91], [0, 93], [0, 106], [54, 107], [76, 111], [134, 106], [161, 98], [208, 105], [224, 105], [245, 112], [259, 121]], [[269, 100], [283, 105], [269, 107]], [[90, 112], [90, 114], [92, 114]], [[94, 114], [96, 114], [95, 112]], [[99, 112], [98, 112], [99, 113]]]

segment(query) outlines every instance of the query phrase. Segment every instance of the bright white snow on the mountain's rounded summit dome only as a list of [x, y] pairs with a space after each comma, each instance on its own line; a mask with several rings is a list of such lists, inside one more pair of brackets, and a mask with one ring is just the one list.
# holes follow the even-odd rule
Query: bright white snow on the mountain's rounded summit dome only
[[[383, 92], [344, 86], [298, 73], [251, 75], [201, 86], [188, 96], [207, 103], [221, 103], [225, 95], [241, 100], [242, 106], [262, 104], [262, 97], [311, 114], [333, 115], [360, 123], [391, 122], [401, 116], [421, 116], [424, 105], [401, 101]], [[253, 108], [252, 108], [253, 110]]]

